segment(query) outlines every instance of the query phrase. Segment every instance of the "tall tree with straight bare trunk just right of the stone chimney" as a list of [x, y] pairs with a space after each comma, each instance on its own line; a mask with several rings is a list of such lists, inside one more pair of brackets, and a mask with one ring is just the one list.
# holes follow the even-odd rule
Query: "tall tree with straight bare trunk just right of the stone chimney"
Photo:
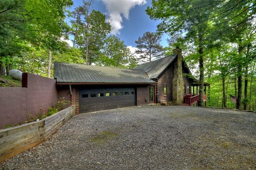
[[192, 42], [198, 53], [199, 60], [199, 102], [203, 106], [204, 95], [204, 50], [210, 26], [209, 20], [218, 2], [211, 0], [183, 1], [152, 1], [152, 7], [146, 12], [151, 19], [161, 19], [158, 31], [174, 35], [185, 34], [183, 38]]

